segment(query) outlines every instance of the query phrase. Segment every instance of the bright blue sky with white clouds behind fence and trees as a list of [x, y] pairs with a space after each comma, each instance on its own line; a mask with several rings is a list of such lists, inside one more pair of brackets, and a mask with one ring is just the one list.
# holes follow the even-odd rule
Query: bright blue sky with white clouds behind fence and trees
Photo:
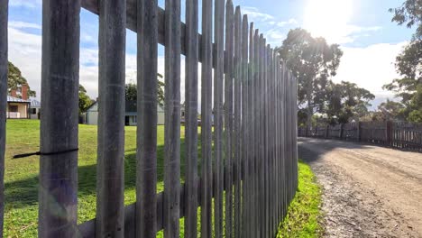
[[[41, 0], [9, 0], [9, 60], [23, 72], [41, 98]], [[184, 2], [181, 21], [184, 22]], [[201, 2], [201, 1], [199, 1]], [[350, 81], [377, 98], [373, 107], [392, 98], [382, 85], [398, 78], [394, 61], [414, 30], [391, 23], [389, 8], [403, 0], [234, 0], [242, 14], [260, 29], [272, 47], [280, 46], [290, 29], [305, 28], [313, 36], [340, 44], [344, 51], [335, 82]], [[164, 7], [164, 0], [159, 0]], [[80, 83], [92, 98], [98, 87], [98, 17], [80, 14]], [[200, 24], [199, 24], [200, 26]], [[199, 29], [200, 32], [200, 29]], [[126, 81], [136, 79], [136, 34], [127, 30]], [[164, 72], [164, 48], [159, 46], [159, 72]], [[181, 62], [184, 100], [184, 59]]]

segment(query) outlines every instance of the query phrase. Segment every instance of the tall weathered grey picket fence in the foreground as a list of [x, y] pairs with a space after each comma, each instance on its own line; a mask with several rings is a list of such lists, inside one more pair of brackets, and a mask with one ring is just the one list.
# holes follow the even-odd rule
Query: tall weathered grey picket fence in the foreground
[[[7, 4], [0, 0], [1, 98], [7, 93]], [[214, 7], [213, 1], [203, 0], [199, 14], [198, 1], [187, 0], [186, 23], [180, 23], [180, 0], [165, 1], [165, 11], [157, 0], [44, 0], [42, 4], [40, 237], [155, 237], [161, 230], [164, 237], [179, 237], [181, 217], [185, 237], [275, 235], [298, 186], [297, 85], [240, 7], [234, 10], [231, 0], [226, 4], [216, 0]], [[99, 15], [96, 219], [84, 224], [77, 221], [81, 7]], [[139, 129], [137, 201], [124, 207], [126, 28], [138, 32]], [[159, 43], [165, 46], [166, 59], [164, 168], [157, 167]], [[181, 54], [186, 57], [184, 178], [180, 175]], [[199, 95], [198, 62], [202, 63]], [[5, 100], [0, 106], [4, 111]], [[0, 114], [0, 151], [3, 191], [5, 114]], [[159, 194], [157, 169], [164, 170], [164, 191]], [[0, 196], [3, 224], [3, 193]]]

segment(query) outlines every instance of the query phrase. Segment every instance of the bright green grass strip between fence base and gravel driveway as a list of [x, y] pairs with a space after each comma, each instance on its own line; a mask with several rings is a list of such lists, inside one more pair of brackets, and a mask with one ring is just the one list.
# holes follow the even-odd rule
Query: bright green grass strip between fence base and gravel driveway
[[299, 161], [298, 191], [289, 206], [287, 217], [280, 224], [277, 237], [322, 237], [321, 188], [310, 167]]

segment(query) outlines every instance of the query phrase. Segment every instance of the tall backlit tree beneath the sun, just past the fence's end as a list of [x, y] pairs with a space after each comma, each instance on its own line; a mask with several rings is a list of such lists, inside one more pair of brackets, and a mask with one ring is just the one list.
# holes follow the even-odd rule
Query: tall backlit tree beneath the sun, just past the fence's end
[[298, 78], [298, 104], [307, 106], [307, 122], [325, 103], [329, 77], [335, 76], [343, 51], [339, 45], [313, 38], [304, 29], [290, 30], [277, 49], [295, 78]]

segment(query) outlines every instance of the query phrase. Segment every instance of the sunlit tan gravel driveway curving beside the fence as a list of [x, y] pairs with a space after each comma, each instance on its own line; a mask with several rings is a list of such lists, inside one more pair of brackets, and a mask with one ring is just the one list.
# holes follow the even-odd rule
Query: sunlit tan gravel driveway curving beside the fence
[[326, 237], [422, 237], [422, 153], [298, 139], [323, 186]]

